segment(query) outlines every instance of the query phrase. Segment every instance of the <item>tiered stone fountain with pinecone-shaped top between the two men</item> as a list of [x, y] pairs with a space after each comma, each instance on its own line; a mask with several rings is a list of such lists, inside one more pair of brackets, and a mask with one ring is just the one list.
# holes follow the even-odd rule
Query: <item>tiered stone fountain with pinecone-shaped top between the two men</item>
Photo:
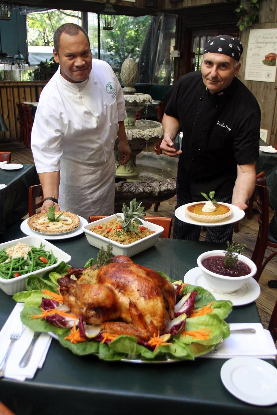
[[[145, 210], [153, 203], [167, 200], [176, 193], [178, 160], [144, 148], [156, 144], [163, 137], [162, 125], [152, 120], [136, 120], [137, 111], [152, 102], [148, 94], [137, 93], [134, 85], [138, 78], [137, 65], [132, 58], [122, 64], [121, 79], [127, 119], [124, 121], [131, 159], [121, 165], [118, 158], [118, 140], [115, 143], [115, 176], [122, 179], [115, 184], [115, 212], [121, 212], [123, 202], [136, 198]], [[147, 110], [147, 108], [146, 108]]]

